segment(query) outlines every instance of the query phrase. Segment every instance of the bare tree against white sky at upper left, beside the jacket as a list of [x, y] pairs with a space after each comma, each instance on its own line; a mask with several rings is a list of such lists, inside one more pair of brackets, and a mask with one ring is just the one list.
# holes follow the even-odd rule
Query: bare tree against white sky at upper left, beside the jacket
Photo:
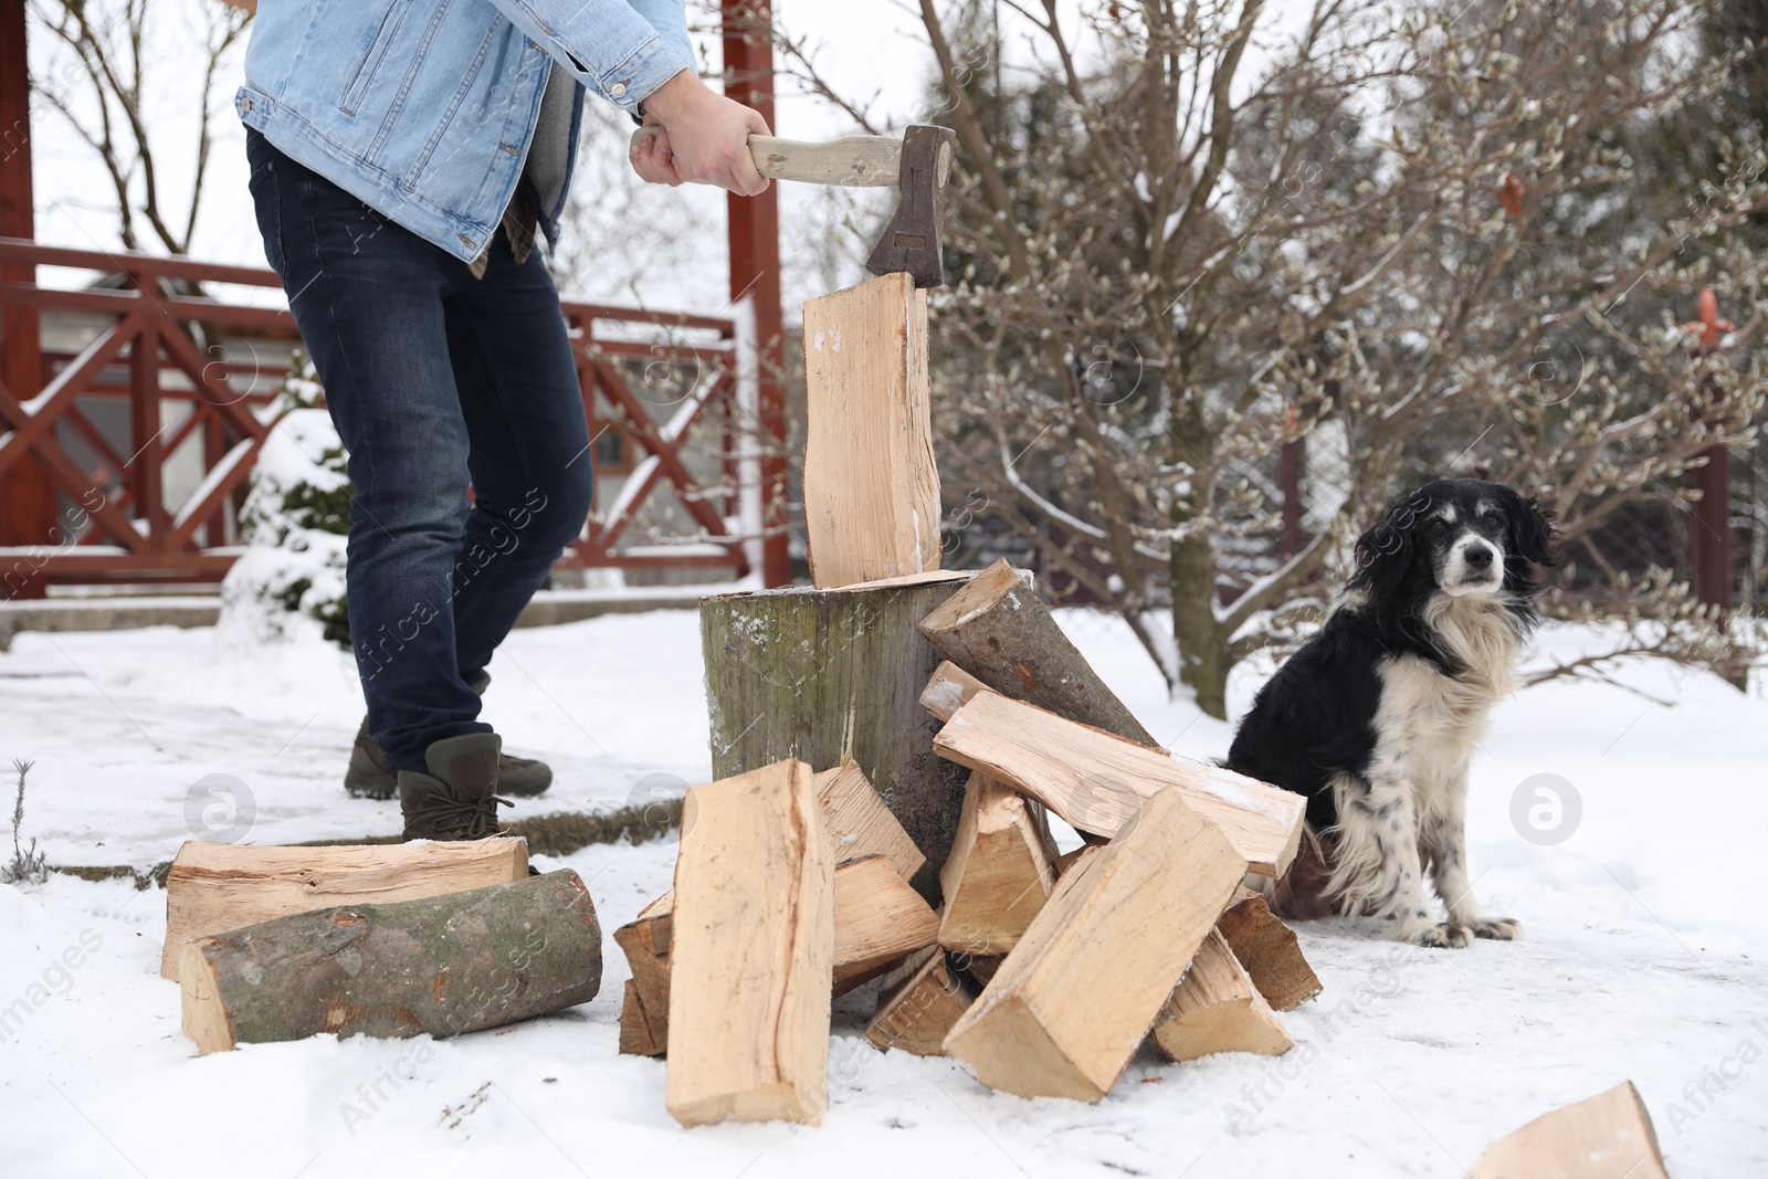
[[[177, 34], [159, 28], [171, 11], [187, 18]], [[30, 12], [60, 49], [58, 67], [32, 78], [32, 90], [103, 163], [124, 247], [141, 249], [152, 240], [168, 253], [187, 255], [214, 145], [216, 81], [251, 14], [225, 4], [150, 0], [32, 0]], [[179, 62], [189, 62], [198, 80], [196, 110], [177, 115], [156, 106], [164, 90], [149, 78], [156, 65], [164, 67], [164, 60], [156, 60], [164, 51], [157, 39], [171, 35], [179, 37]], [[159, 156], [166, 140], [193, 131], [194, 166], [186, 187], [186, 180], [164, 175]], [[170, 212], [180, 202], [182, 221]]]

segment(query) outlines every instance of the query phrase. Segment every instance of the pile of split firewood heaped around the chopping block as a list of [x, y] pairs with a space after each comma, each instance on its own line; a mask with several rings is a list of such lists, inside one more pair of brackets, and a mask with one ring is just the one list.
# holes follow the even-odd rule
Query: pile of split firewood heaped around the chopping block
[[[674, 891], [613, 935], [621, 1050], [667, 1053], [670, 1114], [819, 1121], [831, 1000], [877, 977], [873, 1045], [1022, 1096], [1096, 1101], [1144, 1041], [1287, 1052], [1275, 1011], [1319, 979], [1243, 879], [1282, 875], [1303, 799], [1155, 746], [1004, 562], [919, 633], [930, 748], [969, 771], [941, 907], [854, 760], [690, 790]], [[1089, 843], [1057, 856], [1048, 813]]]

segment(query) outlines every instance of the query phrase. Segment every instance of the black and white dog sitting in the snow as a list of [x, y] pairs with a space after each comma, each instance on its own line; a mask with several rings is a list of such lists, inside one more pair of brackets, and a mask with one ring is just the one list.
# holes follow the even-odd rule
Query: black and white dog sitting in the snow
[[[1308, 799], [1308, 840], [1266, 893], [1296, 917], [1393, 919], [1421, 946], [1513, 939], [1467, 880], [1467, 762], [1517, 682], [1552, 521], [1478, 479], [1407, 495], [1356, 543], [1321, 633], [1259, 691], [1227, 764]], [[1423, 870], [1448, 910], [1425, 909]]]

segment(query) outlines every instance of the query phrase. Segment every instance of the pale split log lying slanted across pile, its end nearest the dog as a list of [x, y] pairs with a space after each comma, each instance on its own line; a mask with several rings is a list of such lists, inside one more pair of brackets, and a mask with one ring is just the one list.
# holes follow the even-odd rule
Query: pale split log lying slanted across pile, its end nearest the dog
[[997, 691], [978, 691], [953, 712], [934, 748], [1038, 799], [1077, 831], [1116, 836], [1174, 787], [1222, 827], [1250, 871], [1284, 875], [1301, 841], [1307, 799], [1299, 794], [1147, 749]]

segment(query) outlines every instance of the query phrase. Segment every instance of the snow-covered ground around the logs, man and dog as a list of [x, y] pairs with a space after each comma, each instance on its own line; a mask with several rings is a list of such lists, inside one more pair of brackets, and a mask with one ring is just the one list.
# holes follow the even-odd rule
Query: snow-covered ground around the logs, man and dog
[[[1063, 624], [1162, 741], [1227, 749], [1231, 730], [1169, 704], [1117, 622]], [[1543, 647], [1588, 638], [1549, 631]], [[233, 820], [265, 843], [396, 829], [394, 804], [339, 788], [361, 696], [338, 652], [219, 647], [212, 631], [25, 633], [0, 654], [0, 758], [35, 760], [23, 829], [51, 863], [150, 866], [189, 834], [187, 802], [200, 825], [228, 792], [249, 794]], [[492, 670], [490, 719], [559, 771], [527, 813], [613, 808], [652, 774], [709, 772], [690, 610], [516, 631]], [[1678, 1179], [1768, 1174], [1768, 702], [1662, 665], [1628, 682], [1673, 707], [1545, 684], [1499, 709], [1475, 764], [1476, 889], [1524, 940], [1423, 951], [1368, 923], [1303, 926], [1326, 992], [1285, 1016], [1289, 1057], [1144, 1055], [1094, 1107], [875, 1052], [868, 988], [838, 1006], [820, 1128], [682, 1131], [663, 1064], [615, 1052], [612, 937], [601, 995], [553, 1018], [198, 1059], [157, 974], [164, 893], [65, 875], [0, 886], [0, 1174], [1460, 1175], [1490, 1140], [1623, 1078]], [[1255, 688], [1238, 677], [1236, 707]], [[1581, 802], [1575, 825], [1563, 806], [1558, 843], [1512, 820], [1536, 774]], [[674, 847], [560, 863], [612, 932], [668, 887]]]

